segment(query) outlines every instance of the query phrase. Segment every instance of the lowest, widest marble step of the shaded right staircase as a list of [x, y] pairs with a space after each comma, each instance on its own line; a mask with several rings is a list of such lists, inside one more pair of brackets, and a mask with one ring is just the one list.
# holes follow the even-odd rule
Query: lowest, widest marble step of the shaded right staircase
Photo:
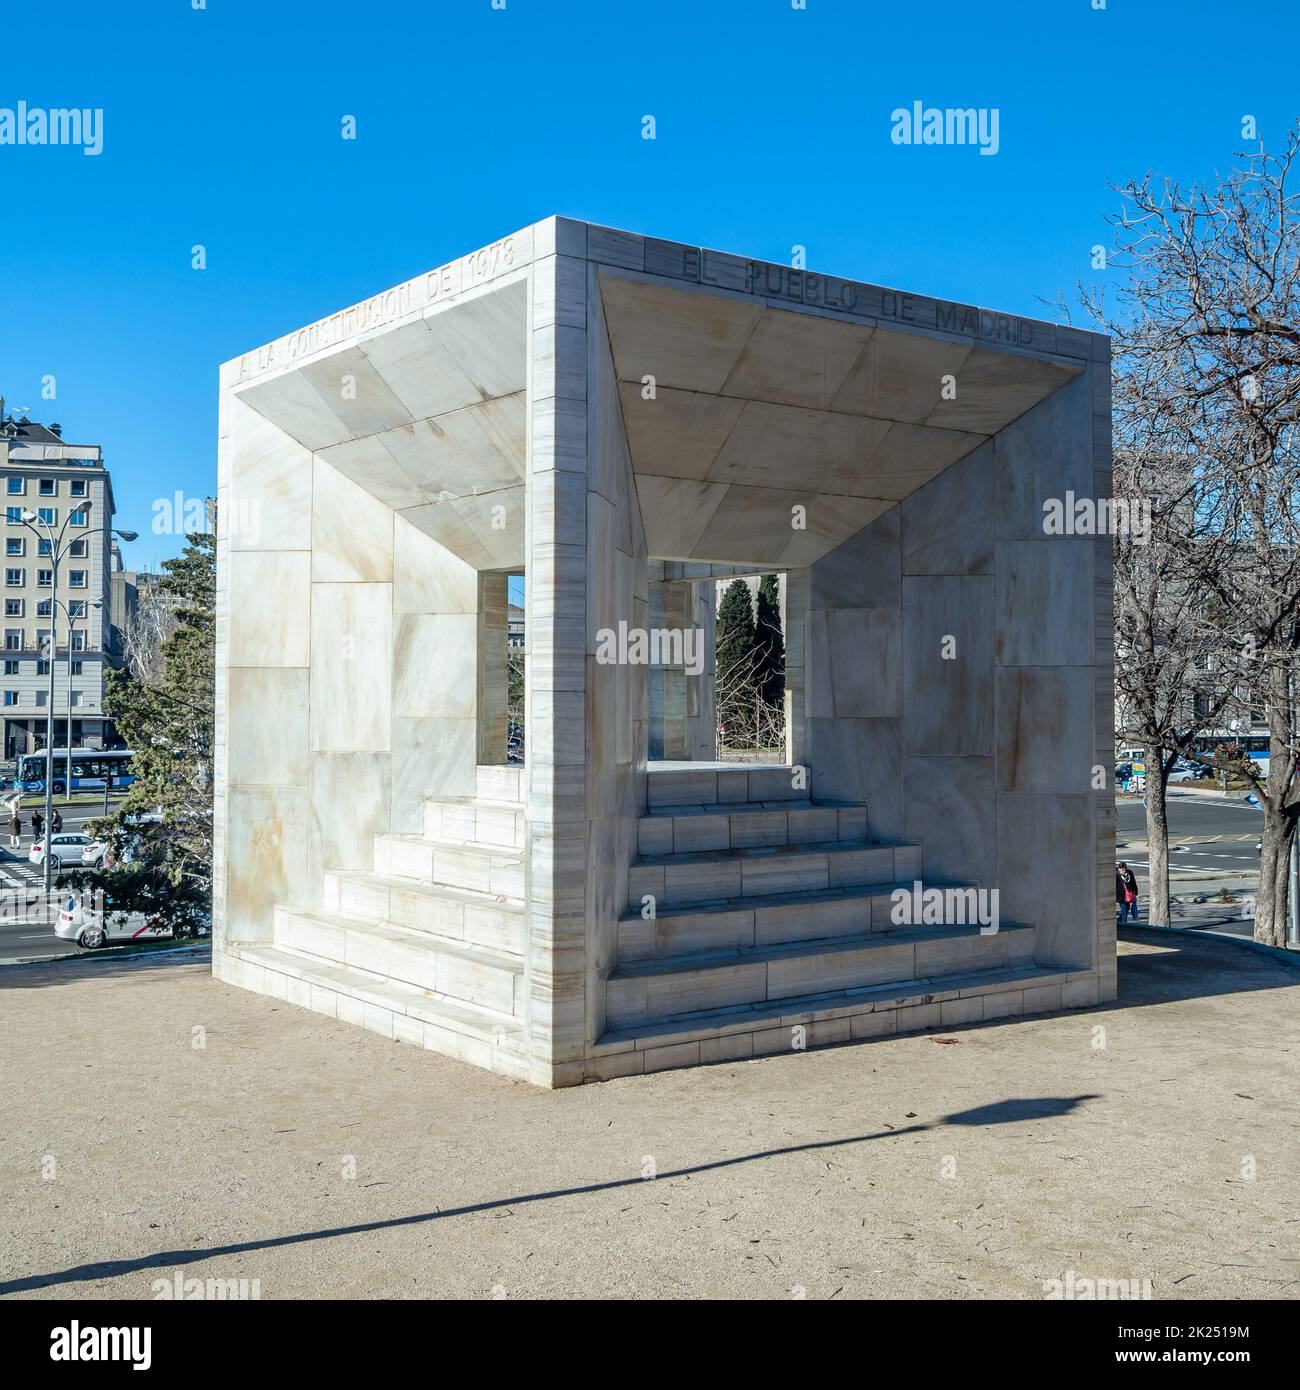
[[[727, 1055], [759, 1055], [759, 1036], [774, 1036], [776, 1030], [795, 1026], [831, 1024], [841, 1019], [852, 1019], [848, 1037], [866, 1038], [908, 1029], [950, 1027], [962, 1023], [979, 1023], [984, 1019], [1005, 1017], [1007, 997], [1022, 995], [1023, 1012], [1030, 1012], [1027, 1001], [1030, 991], [1041, 988], [1047, 999], [1037, 1008], [1058, 1008], [1062, 987], [1075, 980], [1083, 980], [1087, 970], [1072, 970], [1068, 966], [1025, 965], [1002, 970], [973, 970], [966, 974], [947, 974], [934, 979], [901, 980], [890, 984], [875, 984], [861, 990], [831, 990], [822, 994], [805, 994], [794, 998], [765, 1001], [729, 1009], [702, 1009], [694, 1013], [680, 1013], [673, 1017], [649, 1019], [644, 1023], [630, 1023], [608, 1027], [596, 1040], [596, 1047], [617, 1052], [628, 1048], [651, 1049], [674, 1044], [704, 1040], [723, 1040], [737, 1034], [754, 1034], [752, 1052], [737, 1048], [729, 1054], [717, 1048], [717, 1059]], [[1048, 1002], [1055, 992], [1055, 1004]], [[862, 1024], [859, 1019], [893, 1013], [900, 1009], [915, 1009], [915, 1022], [881, 1019], [880, 1026]], [[927, 1015], [927, 1019], [919, 1017]], [[847, 1041], [847, 1038], [845, 1038]], [[793, 1044], [781, 1040], [784, 1048]], [[701, 1052], [702, 1056], [702, 1052]], [[684, 1058], [684, 1062], [692, 1061]]]

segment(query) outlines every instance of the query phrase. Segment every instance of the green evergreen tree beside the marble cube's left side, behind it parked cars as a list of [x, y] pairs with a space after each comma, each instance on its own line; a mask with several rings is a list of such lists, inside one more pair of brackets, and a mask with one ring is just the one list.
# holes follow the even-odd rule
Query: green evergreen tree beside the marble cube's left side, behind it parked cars
[[108, 671], [104, 712], [135, 751], [135, 781], [117, 815], [95, 826], [115, 863], [78, 876], [115, 915], [140, 912], [178, 931], [211, 912], [216, 556], [216, 537], [200, 531], [163, 563], [177, 624], [163, 644], [163, 678]]

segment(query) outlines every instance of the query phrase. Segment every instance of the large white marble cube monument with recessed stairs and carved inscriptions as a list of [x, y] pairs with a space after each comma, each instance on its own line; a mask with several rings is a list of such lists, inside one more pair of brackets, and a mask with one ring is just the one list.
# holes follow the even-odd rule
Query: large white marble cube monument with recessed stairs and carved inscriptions
[[[541, 1086], [1114, 998], [1110, 541], [1044, 530], [1108, 392], [1091, 334], [567, 218], [228, 361], [216, 974]], [[787, 764], [713, 763], [712, 660], [602, 641], [773, 571]]]

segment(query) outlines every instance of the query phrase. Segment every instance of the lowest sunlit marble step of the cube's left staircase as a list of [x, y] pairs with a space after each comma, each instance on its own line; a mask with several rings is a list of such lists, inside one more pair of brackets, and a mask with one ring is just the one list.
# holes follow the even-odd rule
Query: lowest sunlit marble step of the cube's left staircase
[[[366, 1011], [367, 1019], [373, 1011], [377, 1015], [377, 1022], [385, 1023], [382, 1031], [387, 1037], [416, 1041], [414, 1033], [428, 1026], [435, 1031], [446, 1030], [460, 1037], [473, 1038], [476, 1042], [513, 1048], [519, 1052], [524, 1052], [527, 1045], [524, 1026], [516, 1017], [476, 1008], [460, 999], [432, 994], [398, 980], [380, 980], [374, 974], [352, 966], [331, 965], [317, 956], [300, 955], [275, 945], [242, 944], [239, 959], [242, 963], [261, 966], [267, 972], [288, 976], [296, 981], [300, 986], [298, 991], [300, 997], [295, 999], [291, 994], [289, 998], [306, 1008], [318, 1006], [316, 991], [355, 1001], [359, 1009]], [[310, 991], [309, 998], [302, 997], [306, 991]], [[341, 1005], [336, 1012], [332, 1006], [320, 1012], [343, 1017]], [[389, 1019], [389, 1016], [392, 1017]], [[396, 1020], [405, 1020], [406, 1026]], [[359, 1017], [356, 1022], [363, 1020]], [[368, 1027], [370, 1023], [366, 1022], [366, 1026]], [[423, 1038], [421, 1041], [424, 1045], [432, 1045], [431, 1041]]]

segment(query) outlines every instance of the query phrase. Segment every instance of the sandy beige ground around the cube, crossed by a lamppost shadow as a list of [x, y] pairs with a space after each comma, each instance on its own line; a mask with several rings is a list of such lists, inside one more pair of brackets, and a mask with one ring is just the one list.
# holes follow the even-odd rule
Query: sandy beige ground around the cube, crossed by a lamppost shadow
[[1296, 1297], [1300, 972], [1144, 935], [1119, 988], [546, 1093], [202, 956], [8, 967], [0, 1293]]

